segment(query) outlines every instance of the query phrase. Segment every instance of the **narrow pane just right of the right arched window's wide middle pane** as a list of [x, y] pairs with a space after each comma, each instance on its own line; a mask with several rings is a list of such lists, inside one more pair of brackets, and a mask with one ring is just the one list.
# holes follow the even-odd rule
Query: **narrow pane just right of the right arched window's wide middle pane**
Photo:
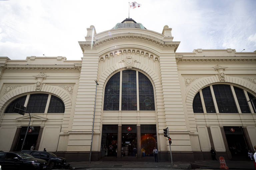
[[233, 87], [234, 87], [234, 90], [236, 93], [236, 98], [238, 100], [241, 112], [242, 113], [250, 113], [250, 109], [248, 107], [248, 102], [245, 98], [244, 91], [238, 87], [235, 87], [235, 86], [233, 86]]

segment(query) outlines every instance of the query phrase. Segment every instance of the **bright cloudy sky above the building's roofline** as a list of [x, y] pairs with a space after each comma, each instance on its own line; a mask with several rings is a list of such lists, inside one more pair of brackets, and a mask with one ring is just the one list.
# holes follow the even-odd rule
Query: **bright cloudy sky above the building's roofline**
[[[130, 1], [132, 2], [132, 1]], [[172, 28], [176, 52], [193, 49], [256, 50], [256, 0], [136, 0], [141, 7], [130, 18], [162, 33]], [[0, 0], [0, 56], [81, 60], [78, 41], [86, 28], [96, 33], [112, 29], [128, 18], [125, 0]]]

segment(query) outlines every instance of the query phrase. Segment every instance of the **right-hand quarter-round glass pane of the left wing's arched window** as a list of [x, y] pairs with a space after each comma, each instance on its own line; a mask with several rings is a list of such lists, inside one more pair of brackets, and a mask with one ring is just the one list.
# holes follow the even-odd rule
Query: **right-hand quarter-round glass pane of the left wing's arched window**
[[[43, 109], [42, 107], [40, 109]], [[56, 97], [51, 96], [51, 100], [49, 103], [48, 113], [64, 113], [65, 112], [65, 105], [63, 101]]]

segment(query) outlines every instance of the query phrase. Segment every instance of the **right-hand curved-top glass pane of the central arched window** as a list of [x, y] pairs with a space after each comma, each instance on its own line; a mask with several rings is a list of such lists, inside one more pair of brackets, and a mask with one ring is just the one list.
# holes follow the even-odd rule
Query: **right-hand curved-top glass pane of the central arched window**
[[150, 80], [138, 72], [140, 110], [155, 110], [154, 90]]

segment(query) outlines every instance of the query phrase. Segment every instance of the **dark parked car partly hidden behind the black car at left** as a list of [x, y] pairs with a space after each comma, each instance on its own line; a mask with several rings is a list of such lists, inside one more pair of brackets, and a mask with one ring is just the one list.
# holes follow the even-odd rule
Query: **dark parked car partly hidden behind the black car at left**
[[35, 150], [22, 150], [24, 153], [29, 153], [31, 156], [35, 158], [40, 158], [46, 160], [48, 163], [48, 168], [53, 169], [54, 167], [66, 167], [66, 158], [58, 157], [52, 152], [43, 152], [43, 151], [35, 151]]

